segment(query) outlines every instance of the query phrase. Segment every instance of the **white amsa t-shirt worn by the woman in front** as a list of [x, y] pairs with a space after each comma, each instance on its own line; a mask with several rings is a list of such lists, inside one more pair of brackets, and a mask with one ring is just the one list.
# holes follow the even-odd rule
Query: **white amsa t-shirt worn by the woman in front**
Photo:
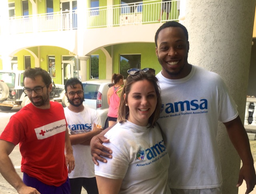
[[120, 194], [170, 194], [167, 184], [169, 157], [158, 127], [147, 128], [126, 121], [105, 134], [113, 151], [107, 163], [95, 166], [95, 174], [123, 179]]

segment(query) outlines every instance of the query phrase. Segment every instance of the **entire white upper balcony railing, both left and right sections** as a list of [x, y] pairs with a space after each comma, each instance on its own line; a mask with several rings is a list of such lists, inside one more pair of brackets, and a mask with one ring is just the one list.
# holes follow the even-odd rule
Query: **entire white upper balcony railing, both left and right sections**
[[[166, 2], [171, 6], [168, 21], [178, 20], [179, 2]], [[165, 22], [166, 13], [162, 17], [161, 9], [162, 3], [159, 0], [89, 8], [86, 10], [87, 21], [84, 24], [87, 28], [98, 28], [156, 23], [159, 20]], [[78, 28], [77, 17], [77, 10], [13, 17], [9, 20], [10, 34], [74, 30]]]

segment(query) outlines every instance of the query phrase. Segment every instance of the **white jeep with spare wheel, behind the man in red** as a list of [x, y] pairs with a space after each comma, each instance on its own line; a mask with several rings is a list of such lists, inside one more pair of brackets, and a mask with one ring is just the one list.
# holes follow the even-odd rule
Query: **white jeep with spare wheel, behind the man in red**
[[[0, 109], [8, 111], [12, 107], [24, 107], [30, 100], [23, 92], [23, 73], [22, 70], [5, 71], [0, 70]], [[55, 85], [52, 82], [52, 92], [50, 93], [51, 101], [62, 103], [65, 90], [63, 85]]]

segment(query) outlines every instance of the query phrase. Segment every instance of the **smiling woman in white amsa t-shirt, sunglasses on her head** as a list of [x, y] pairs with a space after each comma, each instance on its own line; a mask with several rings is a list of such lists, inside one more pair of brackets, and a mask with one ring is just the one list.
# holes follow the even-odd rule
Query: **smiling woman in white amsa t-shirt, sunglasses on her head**
[[154, 69], [129, 69], [118, 123], [105, 137], [112, 159], [95, 166], [100, 194], [170, 194], [169, 156], [156, 121], [161, 97]]

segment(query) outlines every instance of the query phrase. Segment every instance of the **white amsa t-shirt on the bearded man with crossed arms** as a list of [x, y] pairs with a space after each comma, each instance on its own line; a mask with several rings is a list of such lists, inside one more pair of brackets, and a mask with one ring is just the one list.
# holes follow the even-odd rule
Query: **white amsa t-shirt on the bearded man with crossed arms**
[[[94, 123], [97, 127], [101, 127], [100, 116], [94, 109], [84, 106], [82, 112], [74, 113], [66, 107], [64, 108], [64, 112], [70, 135], [92, 131]], [[92, 161], [90, 146], [78, 144], [72, 145], [72, 148], [76, 167], [70, 174], [68, 174], [68, 177], [95, 177], [94, 162]]]

